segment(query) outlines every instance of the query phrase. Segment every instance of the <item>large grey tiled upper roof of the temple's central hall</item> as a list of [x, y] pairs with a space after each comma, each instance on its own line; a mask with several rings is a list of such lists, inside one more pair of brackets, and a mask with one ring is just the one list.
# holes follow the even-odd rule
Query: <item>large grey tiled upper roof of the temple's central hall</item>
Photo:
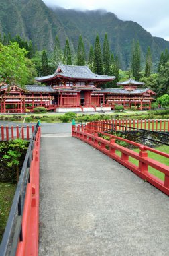
[[45, 77], [36, 77], [35, 79], [39, 82], [56, 79], [57, 77], [63, 78], [74, 78], [74, 79], [86, 79], [92, 81], [112, 81], [115, 79], [114, 76], [108, 75], [97, 75], [93, 73], [87, 66], [73, 66], [73, 65], [58, 65], [58, 69], [53, 75]]

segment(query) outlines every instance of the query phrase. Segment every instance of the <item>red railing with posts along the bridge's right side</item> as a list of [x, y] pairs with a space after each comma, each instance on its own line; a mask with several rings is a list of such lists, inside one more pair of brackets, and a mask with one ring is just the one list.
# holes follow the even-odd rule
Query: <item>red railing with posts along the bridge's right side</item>
[[[108, 135], [107, 133], [103, 133], [101, 131], [99, 131], [99, 133], [109, 136], [110, 141], [99, 137], [97, 132], [93, 133], [93, 129], [86, 129], [86, 127], [84, 129], [83, 125], [81, 127], [80, 125], [78, 125], [78, 127], [72, 126], [72, 137], [77, 137], [78, 139], [89, 143], [94, 148], [97, 148], [97, 150], [100, 150], [120, 164], [123, 164], [123, 166], [127, 167], [129, 170], [132, 170], [139, 177], [166, 193], [166, 195], [169, 195], [169, 166], [149, 158], [148, 151], [160, 154], [166, 158], [169, 158], [169, 154], [154, 150], [153, 148], [149, 148], [147, 146], [142, 146], [139, 143], [135, 143], [115, 135]], [[139, 147], [139, 153], [118, 145], [115, 143], [116, 139]], [[116, 151], [121, 152], [121, 156], [119, 156]], [[129, 156], [139, 162], [138, 166], [129, 161]], [[150, 172], [148, 172], [148, 166], [151, 166], [159, 172], [164, 173], [164, 181], [158, 179], [153, 174], [150, 174]]]

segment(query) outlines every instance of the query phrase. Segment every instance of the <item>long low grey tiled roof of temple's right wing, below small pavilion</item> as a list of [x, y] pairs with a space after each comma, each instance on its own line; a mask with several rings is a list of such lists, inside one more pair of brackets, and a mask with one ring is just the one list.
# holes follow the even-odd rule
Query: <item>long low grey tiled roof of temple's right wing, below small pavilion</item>
[[118, 89], [118, 88], [102, 88], [99, 91], [93, 91], [93, 93], [108, 93], [108, 94], [143, 94], [144, 92], [147, 92], [150, 90], [149, 88], [144, 88], [144, 89], [136, 89], [133, 91], [128, 91], [125, 89]]

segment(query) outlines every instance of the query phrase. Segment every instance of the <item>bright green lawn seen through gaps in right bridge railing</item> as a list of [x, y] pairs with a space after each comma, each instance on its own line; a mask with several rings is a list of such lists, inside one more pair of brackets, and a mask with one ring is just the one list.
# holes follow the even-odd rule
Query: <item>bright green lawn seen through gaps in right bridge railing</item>
[[[163, 145], [163, 146], [156, 147], [155, 149], [169, 154], [169, 146]], [[136, 148], [136, 149], [133, 149], [133, 151], [139, 152], [139, 149]], [[121, 156], [121, 152], [119, 151], [116, 151], [116, 154], [118, 156]], [[158, 162], [161, 162], [162, 164], [166, 164], [169, 166], [169, 160], [164, 156], [160, 156], [158, 154], [155, 154], [154, 152], [148, 151], [148, 157], [154, 160], [158, 160]], [[138, 166], [138, 163], [139, 163], [138, 160], [136, 160], [135, 158], [131, 158], [130, 156], [129, 156], [129, 162], [135, 164], [136, 166]], [[159, 172], [158, 170], [152, 168], [151, 166], [148, 166], [148, 172], [150, 172], [154, 176], [164, 181], [164, 174], [162, 172]]]

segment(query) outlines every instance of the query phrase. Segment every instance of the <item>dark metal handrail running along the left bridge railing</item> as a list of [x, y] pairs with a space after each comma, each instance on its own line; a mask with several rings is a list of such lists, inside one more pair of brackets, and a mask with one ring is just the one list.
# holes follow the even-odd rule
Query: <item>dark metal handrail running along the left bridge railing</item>
[[[30, 183], [30, 163], [32, 161], [32, 150], [34, 149], [34, 141], [36, 139], [36, 133], [38, 131], [38, 127], [39, 127], [39, 124], [37, 123], [36, 128], [32, 133], [32, 137], [30, 139], [27, 153], [25, 155], [25, 160], [23, 162], [23, 167], [21, 169], [19, 182], [17, 184], [17, 189], [15, 191], [15, 195], [13, 198], [11, 211], [9, 213], [7, 225], [5, 228], [5, 232], [3, 234], [3, 239], [1, 241], [1, 246], [0, 246], [1, 256], [5, 256], [7, 255], [7, 253], [9, 253], [9, 247], [11, 247], [10, 255], [14, 256], [17, 250], [17, 243], [19, 240], [19, 236], [20, 236], [20, 239], [22, 238], [21, 220], [22, 220], [23, 206], [25, 201], [25, 191], [26, 191], [27, 183]], [[13, 230], [14, 228], [16, 228], [16, 230]], [[13, 238], [11, 236], [13, 236]], [[12, 243], [11, 243], [11, 240], [13, 240]]]

